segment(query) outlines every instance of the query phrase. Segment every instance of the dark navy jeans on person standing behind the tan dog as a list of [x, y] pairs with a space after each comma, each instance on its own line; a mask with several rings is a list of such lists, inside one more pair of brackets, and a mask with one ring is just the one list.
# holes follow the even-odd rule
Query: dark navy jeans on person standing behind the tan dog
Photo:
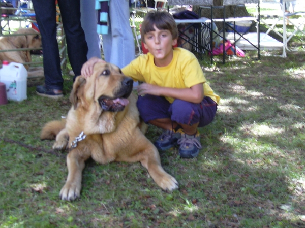
[[[54, 0], [32, 0], [42, 39], [43, 67], [47, 89], [63, 89], [57, 43], [56, 6]], [[66, 34], [68, 57], [76, 76], [87, 61], [88, 47], [80, 23], [80, 0], [58, 0]]]

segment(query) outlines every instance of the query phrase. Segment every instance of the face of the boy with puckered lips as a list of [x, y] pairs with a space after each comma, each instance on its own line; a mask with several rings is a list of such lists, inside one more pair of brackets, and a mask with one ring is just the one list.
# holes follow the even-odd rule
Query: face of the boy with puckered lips
[[173, 46], [177, 44], [177, 39], [173, 40], [169, 30], [159, 30], [155, 25], [154, 28], [155, 31], [144, 35], [144, 47], [154, 55], [156, 66], [165, 67], [173, 58]]

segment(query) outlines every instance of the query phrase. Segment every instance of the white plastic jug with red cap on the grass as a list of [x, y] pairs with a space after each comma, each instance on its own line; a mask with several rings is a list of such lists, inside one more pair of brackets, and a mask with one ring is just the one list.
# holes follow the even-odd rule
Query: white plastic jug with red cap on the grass
[[23, 64], [3, 61], [0, 82], [6, 85], [8, 100], [20, 102], [27, 99], [27, 71]]

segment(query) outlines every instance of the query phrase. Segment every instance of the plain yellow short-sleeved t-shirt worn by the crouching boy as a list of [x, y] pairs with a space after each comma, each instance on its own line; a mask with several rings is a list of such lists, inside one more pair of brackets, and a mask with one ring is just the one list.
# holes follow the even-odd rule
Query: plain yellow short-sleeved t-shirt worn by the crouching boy
[[[140, 55], [122, 69], [126, 76], [135, 81], [169, 88], [190, 88], [203, 83], [204, 96], [211, 97], [217, 104], [220, 97], [206, 83], [196, 56], [183, 48], [174, 48], [173, 59], [166, 67], [157, 67], [151, 53]], [[175, 99], [165, 97], [170, 103]]]

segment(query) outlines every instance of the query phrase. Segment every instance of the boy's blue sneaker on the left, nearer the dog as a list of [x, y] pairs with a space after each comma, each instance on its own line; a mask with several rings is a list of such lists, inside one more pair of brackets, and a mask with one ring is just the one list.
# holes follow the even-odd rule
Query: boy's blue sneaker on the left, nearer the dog
[[159, 136], [154, 145], [158, 150], [170, 149], [177, 144], [178, 139], [181, 138], [181, 133], [183, 133], [182, 129], [178, 129], [177, 131], [166, 130], [161, 136]]

